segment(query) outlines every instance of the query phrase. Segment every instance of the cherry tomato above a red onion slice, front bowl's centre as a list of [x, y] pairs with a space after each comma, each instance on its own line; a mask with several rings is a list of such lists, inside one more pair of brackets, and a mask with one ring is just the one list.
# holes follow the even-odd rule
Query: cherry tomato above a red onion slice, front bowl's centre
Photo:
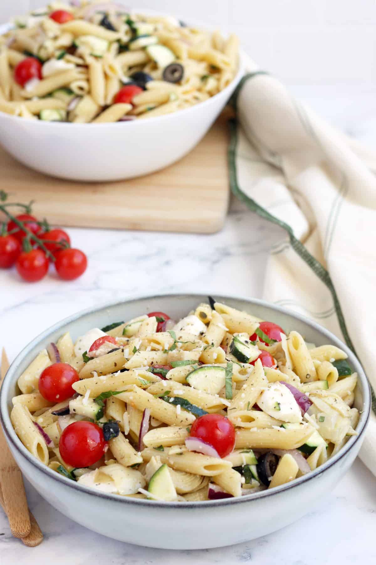
[[235, 447], [235, 427], [221, 414], [205, 414], [192, 424], [191, 436], [210, 444], [220, 457], [226, 457]]

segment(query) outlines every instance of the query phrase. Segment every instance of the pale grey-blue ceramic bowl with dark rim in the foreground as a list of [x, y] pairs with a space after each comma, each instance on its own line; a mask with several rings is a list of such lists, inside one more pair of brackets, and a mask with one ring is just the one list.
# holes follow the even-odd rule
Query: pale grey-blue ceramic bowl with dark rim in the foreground
[[222, 296], [216, 299], [259, 318], [276, 321], [286, 331], [295, 329], [316, 345], [334, 344], [346, 351], [350, 364], [359, 374], [355, 396], [355, 406], [361, 410], [358, 435], [352, 436], [337, 455], [316, 471], [271, 491], [245, 497], [182, 504], [123, 498], [77, 485], [39, 463], [16, 436], [9, 414], [18, 377], [39, 350], [67, 331], [76, 339], [89, 328], [156, 310], [179, 319], [207, 297], [162, 295], [113, 303], [98, 310], [92, 308], [55, 324], [25, 347], [12, 363], [1, 390], [0, 415], [10, 449], [26, 478], [57, 510], [116, 540], [167, 549], [202, 549], [237, 544], [283, 528], [312, 511], [337, 485], [359, 452], [369, 418], [369, 384], [359, 361], [333, 334], [284, 308], [254, 299]]

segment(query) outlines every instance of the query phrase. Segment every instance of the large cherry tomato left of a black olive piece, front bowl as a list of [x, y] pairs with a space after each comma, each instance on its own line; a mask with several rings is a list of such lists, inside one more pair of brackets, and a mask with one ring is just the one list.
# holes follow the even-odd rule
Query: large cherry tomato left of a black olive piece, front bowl
[[94, 465], [104, 454], [103, 431], [98, 424], [73, 422], [63, 431], [59, 440], [60, 455], [72, 467]]

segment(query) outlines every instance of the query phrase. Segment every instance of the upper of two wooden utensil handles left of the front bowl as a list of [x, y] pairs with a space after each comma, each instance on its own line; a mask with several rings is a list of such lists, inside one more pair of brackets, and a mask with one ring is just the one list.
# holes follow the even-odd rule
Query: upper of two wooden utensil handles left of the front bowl
[[[9, 362], [3, 349], [1, 363], [1, 384], [9, 367]], [[6, 442], [0, 426], [0, 486], [8, 515], [11, 532], [15, 537], [28, 536], [31, 529], [28, 501], [21, 471]]]

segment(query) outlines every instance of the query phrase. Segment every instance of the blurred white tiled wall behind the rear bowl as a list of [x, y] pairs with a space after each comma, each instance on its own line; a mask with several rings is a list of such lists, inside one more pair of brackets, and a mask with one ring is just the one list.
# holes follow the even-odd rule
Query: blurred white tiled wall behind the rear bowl
[[[0, 0], [0, 6], [6, 21], [43, 0]], [[130, 6], [231, 29], [260, 66], [287, 84], [366, 86], [376, 79], [375, 0], [134, 0]]]

